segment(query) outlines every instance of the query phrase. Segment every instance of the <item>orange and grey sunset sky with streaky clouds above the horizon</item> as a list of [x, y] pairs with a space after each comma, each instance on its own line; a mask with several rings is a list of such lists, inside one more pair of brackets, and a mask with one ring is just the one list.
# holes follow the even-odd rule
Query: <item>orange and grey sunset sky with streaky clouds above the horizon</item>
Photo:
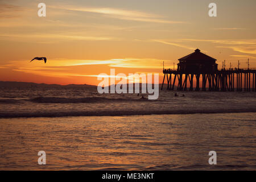
[[255, 0], [0, 0], [0, 81], [98, 85], [111, 68], [162, 80], [163, 61], [176, 68], [196, 48], [218, 68], [256, 68], [255, 17]]

